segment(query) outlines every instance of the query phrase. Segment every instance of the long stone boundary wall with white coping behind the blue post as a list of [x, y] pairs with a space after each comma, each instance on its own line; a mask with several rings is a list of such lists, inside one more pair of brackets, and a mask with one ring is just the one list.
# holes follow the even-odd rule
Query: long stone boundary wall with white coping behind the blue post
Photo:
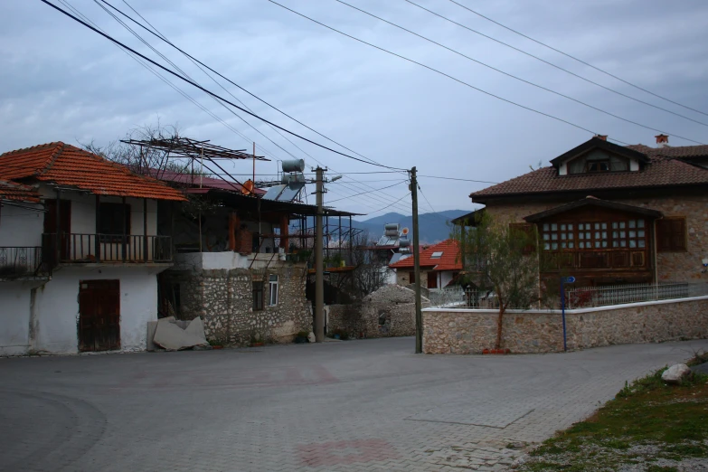
[[[498, 314], [487, 309], [423, 310], [423, 352], [481, 354], [493, 348]], [[565, 323], [569, 350], [703, 339], [708, 337], [708, 297], [566, 310]], [[501, 347], [512, 354], [562, 351], [561, 310], [507, 310]]]

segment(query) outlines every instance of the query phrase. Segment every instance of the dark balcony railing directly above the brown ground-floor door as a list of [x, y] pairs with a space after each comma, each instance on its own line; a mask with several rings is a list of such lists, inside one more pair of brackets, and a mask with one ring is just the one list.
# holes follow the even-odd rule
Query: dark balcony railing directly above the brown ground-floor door
[[169, 236], [136, 234], [56, 233], [42, 235], [44, 259], [57, 263], [172, 262], [172, 239]]

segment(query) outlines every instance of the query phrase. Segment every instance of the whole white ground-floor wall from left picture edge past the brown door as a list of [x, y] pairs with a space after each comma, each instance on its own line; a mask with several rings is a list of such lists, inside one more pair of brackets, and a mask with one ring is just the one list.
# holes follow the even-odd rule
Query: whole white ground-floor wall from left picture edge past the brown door
[[[33, 333], [30, 333], [32, 284], [0, 285], [0, 353], [76, 354], [79, 352], [80, 280], [120, 280], [121, 351], [146, 348], [146, 326], [157, 319], [157, 278], [148, 268], [61, 268], [52, 280], [35, 284]], [[24, 340], [24, 341], [23, 341]], [[17, 343], [22, 341], [23, 347]]]

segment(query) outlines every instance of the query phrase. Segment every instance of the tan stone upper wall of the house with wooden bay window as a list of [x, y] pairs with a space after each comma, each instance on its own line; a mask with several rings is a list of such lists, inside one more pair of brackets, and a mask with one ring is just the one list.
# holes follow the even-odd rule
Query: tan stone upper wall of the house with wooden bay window
[[[701, 260], [708, 257], [708, 196], [677, 195], [667, 198], [613, 199], [613, 202], [651, 208], [663, 212], [665, 216], [684, 216], [688, 237], [687, 250], [681, 252], [658, 252], [656, 265], [659, 282], [690, 282], [708, 280], [702, 274]], [[514, 222], [524, 222], [524, 216], [543, 212], [568, 201], [546, 203], [494, 203], [487, 205], [486, 211], [494, 217]]]

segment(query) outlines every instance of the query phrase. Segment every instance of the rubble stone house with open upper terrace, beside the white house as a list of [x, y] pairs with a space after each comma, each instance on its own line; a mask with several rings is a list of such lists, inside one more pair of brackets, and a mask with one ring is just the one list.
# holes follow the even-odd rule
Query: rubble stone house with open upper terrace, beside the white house
[[[175, 184], [175, 179], [163, 177]], [[160, 275], [164, 316], [201, 316], [206, 337], [229, 345], [288, 343], [312, 330], [306, 248], [301, 231], [315, 205], [265, 198], [240, 184], [203, 177], [178, 184], [190, 197], [160, 229], [174, 234], [175, 266]], [[350, 216], [325, 209], [328, 216]], [[299, 222], [290, 231], [290, 222]]]

